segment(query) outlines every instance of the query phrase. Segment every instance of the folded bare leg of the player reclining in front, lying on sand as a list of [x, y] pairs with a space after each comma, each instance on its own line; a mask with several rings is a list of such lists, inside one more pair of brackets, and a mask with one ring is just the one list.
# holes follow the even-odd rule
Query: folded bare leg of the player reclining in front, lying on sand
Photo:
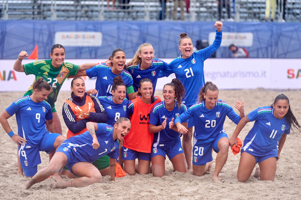
[[99, 170], [88, 162], [79, 162], [73, 165], [72, 171], [81, 176], [78, 179], [67, 182], [56, 182], [55, 188], [85, 187], [94, 183], [100, 183], [102, 176]]

